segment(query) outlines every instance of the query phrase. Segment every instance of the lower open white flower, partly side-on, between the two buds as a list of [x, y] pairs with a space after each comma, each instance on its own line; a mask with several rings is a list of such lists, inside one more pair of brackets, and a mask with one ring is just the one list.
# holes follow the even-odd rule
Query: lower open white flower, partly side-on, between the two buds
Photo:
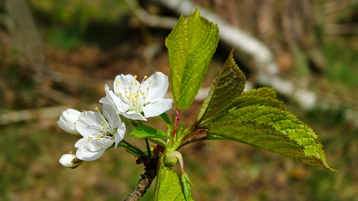
[[[97, 107], [95, 109], [98, 111]], [[114, 105], [103, 104], [103, 115], [100, 111], [86, 111], [79, 115], [76, 129], [83, 138], [74, 145], [78, 148], [77, 158], [84, 161], [99, 159], [113, 142], [117, 147], [123, 140], [126, 127], [116, 111]]]

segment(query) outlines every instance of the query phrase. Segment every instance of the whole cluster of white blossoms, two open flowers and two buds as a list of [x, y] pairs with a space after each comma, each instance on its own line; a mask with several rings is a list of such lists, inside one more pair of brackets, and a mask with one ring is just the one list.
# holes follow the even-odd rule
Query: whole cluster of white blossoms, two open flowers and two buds
[[57, 124], [66, 132], [81, 135], [74, 145], [74, 153], [64, 154], [59, 162], [64, 167], [77, 167], [81, 161], [100, 158], [105, 150], [114, 144], [117, 147], [123, 140], [126, 126], [119, 115], [132, 120], [144, 120], [158, 116], [171, 108], [173, 99], [163, 99], [168, 90], [168, 76], [155, 72], [144, 76], [142, 82], [137, 76], [118, 75], [113, 83], [113, 91], [105, 85], [106, 97], [100, 100], [102, 113], [68, 109], [62, 112]]

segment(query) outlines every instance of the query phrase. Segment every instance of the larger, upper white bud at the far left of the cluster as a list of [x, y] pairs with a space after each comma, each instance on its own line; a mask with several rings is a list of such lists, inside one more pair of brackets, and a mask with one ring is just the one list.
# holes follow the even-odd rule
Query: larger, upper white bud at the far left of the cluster
[[76, 130], [76, 122], [78, 120], [79, 114], [81, 114], [81, 112], [73, 109], [67, 109], [66, 111], [63, 111], [60, 119], [57, 122], [58, 126], [70, 134], [78, 135], [79, 133]]

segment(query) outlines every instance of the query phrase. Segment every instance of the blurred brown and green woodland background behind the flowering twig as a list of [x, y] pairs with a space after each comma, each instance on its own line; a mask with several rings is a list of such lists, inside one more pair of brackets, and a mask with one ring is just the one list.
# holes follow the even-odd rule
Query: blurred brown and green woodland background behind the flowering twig
[[[357, 0], [0, 1], [0, 200], [125, 199], [143, 166], [119, 147], [77, 169], [62, 167], [59, 158], [76, 150], [77, 139], [56, 121], [68, 108], [100, 106], [104, 84], [112, 86], [118, 74], [169, 75], [165, 37], [197, 5], [218, 23], [221, 39], [180, 121], [189, 126], [196, 118], [235, 45], [247, 89], [273, 87], [319, 135], [328, 164], [339, 172], [237, 142], [207, 141], [181, 149], [196, 185], [193, 198], [358, 200]], [[157, 117], [148, 123], [166, 127]], [[144, 141], [125, 138], [144, 148]], [[154, 186], [142, 200], [153, 199]]]

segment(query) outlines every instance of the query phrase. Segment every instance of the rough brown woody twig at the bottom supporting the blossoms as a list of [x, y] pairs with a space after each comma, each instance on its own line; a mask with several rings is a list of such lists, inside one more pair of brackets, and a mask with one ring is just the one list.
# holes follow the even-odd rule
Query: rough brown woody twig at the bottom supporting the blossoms
[[125, 201], [137, 201], [147, 192], [147, 189], [152, 184], [152, 181], [157, 174], [158, 157], [150, 159], [149, 157], [141, 157], [137, 160], [137, 164], [143, 163], [145, 166], [145, 172], [141, 175], [142, 179], [139, 180], [138, 184], [134, 187]]

